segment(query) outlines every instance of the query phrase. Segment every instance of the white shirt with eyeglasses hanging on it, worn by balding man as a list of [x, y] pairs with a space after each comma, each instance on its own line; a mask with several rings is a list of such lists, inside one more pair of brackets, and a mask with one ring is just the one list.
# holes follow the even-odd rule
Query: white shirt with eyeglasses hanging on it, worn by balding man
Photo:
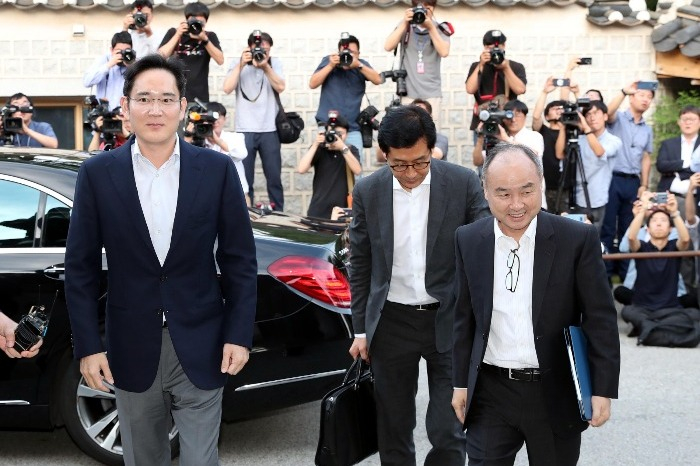
[[[520, 244], [503, 234], [496, 219], [493, 221], [495, 247], [493, 257], [493, 314], [484, 362], [510, 369], [539, 367], [532, 323], [532, 277], [535, 263], [535, 217], [520, 238]], [[513, 266], [515, 291], [506, 288], [510, 271], [508, 256], [517, 249], [520, 269]], [[517, 262], [517, 261], [516, 261]]]

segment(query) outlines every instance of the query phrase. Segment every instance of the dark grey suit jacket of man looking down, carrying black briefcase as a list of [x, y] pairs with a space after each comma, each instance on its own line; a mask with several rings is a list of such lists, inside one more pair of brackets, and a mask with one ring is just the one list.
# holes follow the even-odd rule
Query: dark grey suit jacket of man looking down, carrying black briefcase
[[[425, 289], [440, 301], [435, 317], [437, 350], [452, 348], [454, 318], [454, 232], [489, 215], [479, 178], [472, 170], [442, 160], [430, 162]], [[355, 334], [371, 346], [389, 293], [394, 262], [393, 179], [389, 167], [362, 178], [353, 191], [350, 225], [350, 286]]]

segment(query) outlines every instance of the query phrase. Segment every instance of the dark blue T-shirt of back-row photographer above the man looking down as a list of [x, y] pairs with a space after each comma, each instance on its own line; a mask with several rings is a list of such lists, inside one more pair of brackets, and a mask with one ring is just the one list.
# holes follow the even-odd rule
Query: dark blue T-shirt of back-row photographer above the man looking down
[[[328, 66], [328, 62], [328, 57], [323, 57], [314, 73]], [[361, 58], [360, 63], [372, 68]], [[316, 121], [325, 123], [328, 121], [328, 110], [338, 110], [340, 115], [350, 123], [350, 131], [359, 131], [360, 125], [356, 120], [360, 114], [366, 83], [367, 78], [358, 68], [346, 70], [335, 67], [321, 85], [321, 99], [318, 103]]]

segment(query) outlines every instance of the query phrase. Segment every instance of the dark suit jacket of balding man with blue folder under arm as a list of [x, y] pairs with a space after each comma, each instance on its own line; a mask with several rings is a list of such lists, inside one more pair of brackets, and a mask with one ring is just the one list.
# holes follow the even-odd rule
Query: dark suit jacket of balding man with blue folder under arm
[[[491, 328], [493, 217], [460, 227], [455, 248], [453, 383], [468, 389], [467, 427]], [[550, 424], [562, 434], [588, 426], [579, 415], [566, 352], [564, 328], [570, 325], [580, 325], [588, 337], [593, 395], [617, 398], [620, 337], [598, 234], [592, 225], [541, 212], [535, 235], [532, 327]]]

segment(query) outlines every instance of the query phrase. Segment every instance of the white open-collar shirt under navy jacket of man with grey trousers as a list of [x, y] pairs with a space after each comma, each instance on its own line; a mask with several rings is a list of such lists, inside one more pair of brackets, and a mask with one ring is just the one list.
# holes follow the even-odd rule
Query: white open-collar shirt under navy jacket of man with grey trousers
[[156, 168], [141, 154], [137, 138], [131, 146], [131, 161], [148, 234], [160, 265], [163, 265], [170, 250], [180, 188], [180, 140], [175, 137], [173, 154], [160, 168]]

